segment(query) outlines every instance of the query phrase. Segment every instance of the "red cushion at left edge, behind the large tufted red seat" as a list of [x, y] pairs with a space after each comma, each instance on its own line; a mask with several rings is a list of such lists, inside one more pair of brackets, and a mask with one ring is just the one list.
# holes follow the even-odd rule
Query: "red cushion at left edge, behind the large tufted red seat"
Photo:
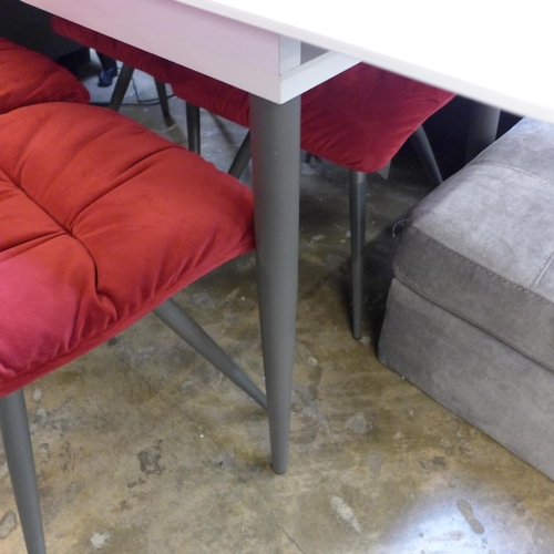
[[89, 91], [66, 69], [0, 38], [0, 113], [42, 102], [89, 100]]

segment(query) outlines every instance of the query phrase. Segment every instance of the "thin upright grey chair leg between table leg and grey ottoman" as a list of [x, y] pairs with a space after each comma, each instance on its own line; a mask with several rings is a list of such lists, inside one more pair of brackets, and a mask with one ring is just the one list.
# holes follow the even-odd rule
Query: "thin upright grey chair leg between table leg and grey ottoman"
[[350, 171], [350, 249], [352, 257], [352, 335], [361, 338], [363, 246], [366, 244], [367, 176]]

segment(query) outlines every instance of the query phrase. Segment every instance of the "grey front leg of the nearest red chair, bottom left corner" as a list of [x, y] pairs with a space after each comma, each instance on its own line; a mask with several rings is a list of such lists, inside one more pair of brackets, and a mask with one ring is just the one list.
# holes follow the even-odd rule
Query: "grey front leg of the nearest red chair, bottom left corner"
[[23, 391], [0, 398], [0, 429], [29, 554], [47, 554]]

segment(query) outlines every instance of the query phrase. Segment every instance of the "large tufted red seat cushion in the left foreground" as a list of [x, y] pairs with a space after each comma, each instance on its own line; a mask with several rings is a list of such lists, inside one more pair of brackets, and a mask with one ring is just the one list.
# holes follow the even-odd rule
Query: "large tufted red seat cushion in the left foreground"
[[0, 396], [254, 247], [246, 186], [117, 113], [22, 107], [0, 142]]

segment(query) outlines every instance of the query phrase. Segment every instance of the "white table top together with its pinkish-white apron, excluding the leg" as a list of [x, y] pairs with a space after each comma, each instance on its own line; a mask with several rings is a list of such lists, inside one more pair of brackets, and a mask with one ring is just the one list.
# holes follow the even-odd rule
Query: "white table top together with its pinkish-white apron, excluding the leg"
[[[25, 1], [275, 102], [360, 60], [554, 122], [547, 0], [455, 6], [444, 0]], [[247, 35], [255, 42], [243, 43]], [[300, 71], [287, 59], [290, 52], [294, 59], [290, 39], [343, 55], [321, 58]], [[285, 40], [285, 48], [275, 45], [278, 40]], [[252, 60], [245, 63], [244, 55]]]

